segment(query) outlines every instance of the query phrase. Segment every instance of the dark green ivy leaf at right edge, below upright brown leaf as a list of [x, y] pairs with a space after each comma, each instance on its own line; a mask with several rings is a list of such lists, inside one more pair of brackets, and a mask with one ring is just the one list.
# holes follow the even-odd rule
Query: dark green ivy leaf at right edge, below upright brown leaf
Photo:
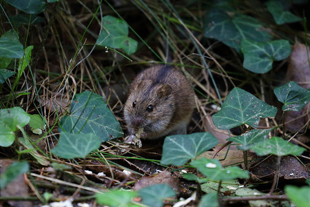
[[310, 91], [299, 86], [295, 81], [289, 81], [284, 86], [273, 90], [277, 99], [284, 103], [282, 110], [302, 110], [310, 101]]

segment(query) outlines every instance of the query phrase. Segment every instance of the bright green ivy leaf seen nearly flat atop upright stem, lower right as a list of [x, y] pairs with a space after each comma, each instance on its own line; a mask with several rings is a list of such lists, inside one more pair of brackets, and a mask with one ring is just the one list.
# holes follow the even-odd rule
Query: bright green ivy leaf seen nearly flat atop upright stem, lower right
[[257, 155], [300, 155], [305, 150], [304, 148], [291, 144], [289, 141], [285, 141], [281, 137], [271, 137], [271, 139], [266, 139], [260, 141], [250, 147], [254, 150]]

